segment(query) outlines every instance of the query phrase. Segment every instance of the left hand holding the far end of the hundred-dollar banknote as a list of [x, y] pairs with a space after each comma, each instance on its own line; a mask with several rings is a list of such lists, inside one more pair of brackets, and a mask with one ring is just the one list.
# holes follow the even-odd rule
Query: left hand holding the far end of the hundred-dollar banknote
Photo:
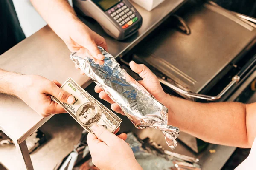
[[66, 113], [64, 108], [51, 99], [51, 95], [61, 102], [72, 104], [75, 101], [71, 94], [60, 88], [61, 84], [56, 80], [51, 82], [38, 75], [19, 75], [18, 79], [20, 83], [15, 88], [16, 96], [41, 116]]

